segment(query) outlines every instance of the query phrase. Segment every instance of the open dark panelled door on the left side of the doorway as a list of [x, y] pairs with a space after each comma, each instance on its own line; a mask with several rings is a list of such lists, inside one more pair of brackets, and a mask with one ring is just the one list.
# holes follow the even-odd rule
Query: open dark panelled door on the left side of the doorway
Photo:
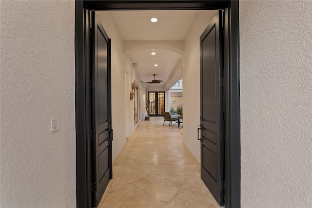
[[91, 12], [91, 125], [93, 206], [112, 179], [111, 44], [95, 12]]

